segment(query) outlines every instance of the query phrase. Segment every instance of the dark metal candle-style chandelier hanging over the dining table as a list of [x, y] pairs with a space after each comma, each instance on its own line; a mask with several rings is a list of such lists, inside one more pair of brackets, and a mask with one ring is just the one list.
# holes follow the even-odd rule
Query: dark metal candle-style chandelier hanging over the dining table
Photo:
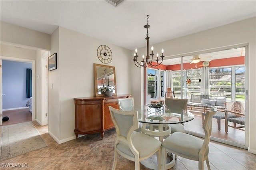
[[[148, 15], [147, 15], [147, 20], [148, 20]], [[148, 52], [148, 42], [149, 42], [149, 39], [150, 39], [149, 34], [148, 34], [148, 28], [150, 28], [150, 25], [148, 25], [148, 23], [147, 23], [147, 25], [145, 25], [144, 28], [147, 29], [147, 34], [146, 34], [147, 37], [145, 38], [146, 41], [147, 41], [147, 56], [146, 56], [146, 60], [144, 60], [144, 54], [143, 54], [142, 55], [141, 64], [137, 61], [137, 57], [138, 57], [137, 52], [138, 52], [138, 50], [136, 48], [135, 49], [135, 53], [134, 53], [133, 61], [134, 61], [134, 64], [137, 67], [144, 67], [144, 68], [146, 68], [146, 67], [148, 67], [148, 65], [150, 65], [151, 67], [156, 67], [156, 66], [160, 65], [163, 62], [163, 59], [164, 59], [164, 49], [162, 49], [162, 51], [161, 51], [162, 52], [162, 56], [160, 56], [162, 58], [162, 61], [160, 63], [158, 63], [158, 61], [161, 60], [161, 59], [158, 59], [158, 53], [156, 53], [156, 60], [153, 61], [153, 55], [154, 55], [154, 53], [153, 53], [153, 50], [154, 50], [153, 45], [151, 47], [151, 54], [149, 54], [149, 52]], [[149, 55], [151, 55], [151, 56], [149, 56]]]

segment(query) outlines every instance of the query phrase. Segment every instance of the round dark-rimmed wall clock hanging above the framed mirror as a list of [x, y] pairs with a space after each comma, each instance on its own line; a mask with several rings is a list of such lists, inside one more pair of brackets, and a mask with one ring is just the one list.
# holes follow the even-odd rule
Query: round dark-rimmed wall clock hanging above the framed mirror
[[102, 63], [109, 63], [112, 60], [112, 52], [107, 45], [100, 45], [97, 49], [98, 59]]

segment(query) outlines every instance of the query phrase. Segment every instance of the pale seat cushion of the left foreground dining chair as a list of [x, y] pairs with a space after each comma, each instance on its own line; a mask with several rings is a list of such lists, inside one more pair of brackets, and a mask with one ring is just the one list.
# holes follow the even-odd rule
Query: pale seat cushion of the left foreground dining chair
[[[161, 142], [159, 140], [135, 131], [132, 132], [132, 144], [140, 153], [140, 158], [154, 154], [161, 147]], [[134, 154], [130, 150], [128, 144], [125, 142], [120, 141], [116, 145], [116, 148], [121, 152], [134, 157]]]

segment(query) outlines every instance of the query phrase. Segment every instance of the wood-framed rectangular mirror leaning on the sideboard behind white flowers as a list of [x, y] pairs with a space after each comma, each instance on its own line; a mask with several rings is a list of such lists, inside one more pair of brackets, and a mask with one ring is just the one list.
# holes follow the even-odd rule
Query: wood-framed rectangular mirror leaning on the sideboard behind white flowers
[[117, 95], [115, 67], [94, 63], [94, 84], [96, 97], [105, 96], [106, 89]]

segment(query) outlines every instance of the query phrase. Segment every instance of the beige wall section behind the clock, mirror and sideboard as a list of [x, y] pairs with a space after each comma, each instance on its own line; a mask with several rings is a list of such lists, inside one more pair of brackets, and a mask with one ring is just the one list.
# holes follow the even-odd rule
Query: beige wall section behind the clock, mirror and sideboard
[[52, 34], [57, 69], [49, 72], [49, 131], [59, 143], [75, 138], [74, 98], [95, 96], [93, 63], [103, 64], [96, 55], [102, 44], [112, 50], [106, 65], [116, 67], [117, 93], [130, 94], [130, 50], [63, 27]]

